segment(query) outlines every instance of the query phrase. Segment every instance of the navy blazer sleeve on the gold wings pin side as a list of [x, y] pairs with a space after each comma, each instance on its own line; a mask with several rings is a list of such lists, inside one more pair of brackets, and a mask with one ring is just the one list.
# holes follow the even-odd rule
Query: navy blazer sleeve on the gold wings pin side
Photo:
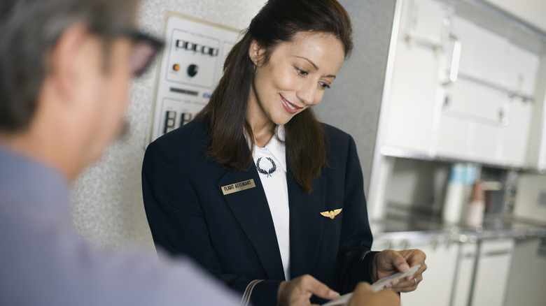
[[336, 279], [341, 293], [354, 290], [358, 282], [372, 283], [372, 231], [367, 216], [364, 180], [356, 144], [347, 144], [344, 177], [344, 205], [341, 239], [337, 256]]

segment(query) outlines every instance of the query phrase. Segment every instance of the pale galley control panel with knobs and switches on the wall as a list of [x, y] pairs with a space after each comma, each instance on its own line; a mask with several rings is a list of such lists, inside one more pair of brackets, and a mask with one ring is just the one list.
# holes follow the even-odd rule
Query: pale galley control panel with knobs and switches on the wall
[[146, 145], [179, 128], [207, 104], [239, 30], [167, 11]]

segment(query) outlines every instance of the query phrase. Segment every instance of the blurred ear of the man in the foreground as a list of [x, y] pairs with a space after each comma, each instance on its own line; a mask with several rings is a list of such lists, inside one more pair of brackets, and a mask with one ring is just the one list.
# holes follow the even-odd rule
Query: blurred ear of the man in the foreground
[[88, 38], [90, 35], [87, 27], [73, 24], [62, 33], [57, 45], [50, 52], [45, 78], [52, 81], [57, 94], [68, 98], [65, 101], [72, 101], [76, 94], [74, 85], [80, 81], [79, 70], [82, 68], [79, 66], [83, 64], [80, 52], [83, 52]]

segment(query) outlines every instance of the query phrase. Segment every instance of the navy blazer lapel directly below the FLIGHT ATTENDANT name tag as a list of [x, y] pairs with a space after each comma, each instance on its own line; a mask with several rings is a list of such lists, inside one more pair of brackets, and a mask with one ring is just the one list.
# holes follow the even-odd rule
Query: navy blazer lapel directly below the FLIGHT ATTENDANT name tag
[[254, 188], [225, 194], [225, 201], [253, 245], [269, 279], [284, 279], [279, 243], [258, 171], [254, 167], [248, 171], [228, 171], [218, 181], [218, 188], [248, 180], [254, 181]]

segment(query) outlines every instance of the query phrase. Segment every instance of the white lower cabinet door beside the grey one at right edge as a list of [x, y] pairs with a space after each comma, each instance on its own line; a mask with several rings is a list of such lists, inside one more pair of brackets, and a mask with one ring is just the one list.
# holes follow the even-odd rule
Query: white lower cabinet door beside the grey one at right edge
[[481, 242], [471, 306], [504, 304], [513, 250], [513, 239]]

